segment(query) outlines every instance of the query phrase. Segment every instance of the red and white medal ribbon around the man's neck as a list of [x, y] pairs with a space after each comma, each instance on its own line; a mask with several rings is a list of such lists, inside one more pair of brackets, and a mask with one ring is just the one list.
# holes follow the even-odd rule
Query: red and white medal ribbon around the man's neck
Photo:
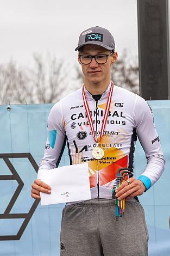
[[97, 139], [95, 138], [95, 129], [94, 129], [94, 126], [93, 126], [93, 120], [92, 120], [92, 117], [91, 117], [91, 114], [90, 114], [89, 104], [87, 102], [87, 97], [86, 97], [85, 90], [84, 90], [84, 85], [82, 87], [82, 95], [83, 95], [83, 102], [84, 102], [84, 106], [85, 106], [85, 111], [86, 111], [86, 114], [87, 114], [87, 118], [89, 120], [90, 128], [91, 128], [91, 131], [92, 131], [92, 136], [93, 136], [93, 138], [94, 138], [94, 140], [97, 144], [102, 139], [104, 129], [105, 129], [105, 126], [106, 126], [106, 121], [108, 120], [108, 114], [109, 114], [113, 89], [114, 89], [114, 83], [111, 81], [109, 95], [108, 95], [108, 99], [107, 99], [107, 102], [106, 102], [106, 108], [105, 108], [105, 112], [104, 112], [102, 128], [101, 128], [101, 131], [100, 131], [99, 140], [97, 142]]

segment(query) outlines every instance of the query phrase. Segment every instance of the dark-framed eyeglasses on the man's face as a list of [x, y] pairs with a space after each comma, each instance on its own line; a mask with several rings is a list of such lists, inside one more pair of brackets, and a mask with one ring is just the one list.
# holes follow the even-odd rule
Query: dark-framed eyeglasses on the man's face
[[104, 64], [108, 60], [108, 56], [113, 54], [113, 52], [109, 54], [97, 54], [97, 55], [89, 55], [89, 54], [79, 54], [80, 62], [82, 64], [90, 64], [92, 59], [95, 58], [98, 64]]

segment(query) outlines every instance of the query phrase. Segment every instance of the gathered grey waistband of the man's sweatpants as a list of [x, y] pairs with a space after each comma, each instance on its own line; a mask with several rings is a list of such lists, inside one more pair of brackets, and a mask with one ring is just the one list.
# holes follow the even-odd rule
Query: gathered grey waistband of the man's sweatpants
[[79, 207], [106, 207], [115, 205], [114, 199], [105, 199], [105, 198], [94, 198], [86, 200], [77, 204], [72, 204], [72, 206]]

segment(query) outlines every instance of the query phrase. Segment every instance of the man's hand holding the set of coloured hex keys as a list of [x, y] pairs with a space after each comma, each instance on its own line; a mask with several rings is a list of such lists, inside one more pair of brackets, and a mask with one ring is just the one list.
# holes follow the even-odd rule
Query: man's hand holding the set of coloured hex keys
[[146, 190], [146, 187], [141, 180], [136, 180], [135, 178], [130, 178], [128, 180], [130, 184], [128, 184], [127, 181], [124, 181], [123, 184], [117, 188], [116, 197], [118, 200], [123, 198], [128, 200], [136, 196], [141, 196]]

